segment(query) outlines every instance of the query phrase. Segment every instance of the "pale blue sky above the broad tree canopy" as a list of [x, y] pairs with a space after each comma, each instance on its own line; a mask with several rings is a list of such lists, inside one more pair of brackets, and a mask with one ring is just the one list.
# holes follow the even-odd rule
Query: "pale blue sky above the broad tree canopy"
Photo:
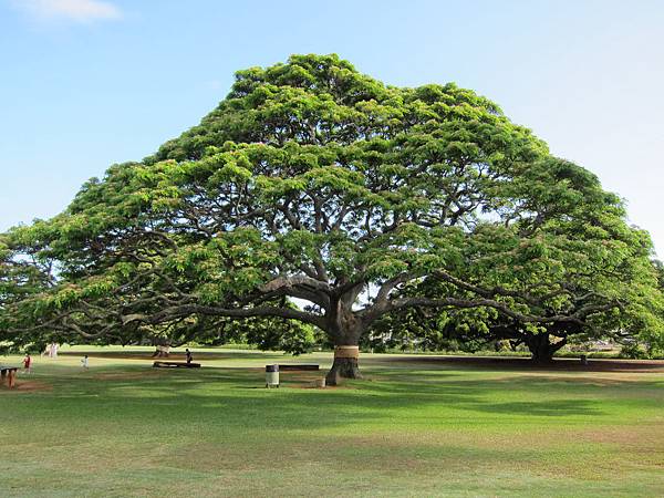
[[335, 52], [449, 81], [591, 169], [664, 257], [664, 2], [0, 0], [0, 230], [198, 123], [236, 70]]

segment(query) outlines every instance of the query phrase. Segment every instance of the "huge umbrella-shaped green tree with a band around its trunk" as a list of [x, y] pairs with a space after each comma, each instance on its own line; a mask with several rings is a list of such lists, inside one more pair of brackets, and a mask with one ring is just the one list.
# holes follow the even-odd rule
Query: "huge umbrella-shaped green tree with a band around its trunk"
[[[533, 325], [620, 310], [612, 295], [581, 311], [532, 305], [560, 289], [561, 272], [535, 283], [529, 272], [547, 274], [538, 251], [566, 250], [556, 224], [613, 203], [560, 164], [453, 84], [386, 86], [335, 55], [240, 71], [200, 125], [7, 235], [8, 274], [32, 264], [48, 283], [9, 277], [0, 341], [294, 322], [335, 345], [336, 384], [360, 376], [361, 338], [400, 310], [494, 310]], [[516, 259], [528, 264], [504, 268]]]

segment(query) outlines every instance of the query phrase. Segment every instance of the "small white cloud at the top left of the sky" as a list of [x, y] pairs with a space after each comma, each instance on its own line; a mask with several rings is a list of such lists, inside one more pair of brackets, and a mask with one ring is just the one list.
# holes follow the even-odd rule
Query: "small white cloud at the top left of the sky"
[[40, 20], [93, 22], [122, 17], [116, 6], [102, 0], [15, 0], [14, 4]]

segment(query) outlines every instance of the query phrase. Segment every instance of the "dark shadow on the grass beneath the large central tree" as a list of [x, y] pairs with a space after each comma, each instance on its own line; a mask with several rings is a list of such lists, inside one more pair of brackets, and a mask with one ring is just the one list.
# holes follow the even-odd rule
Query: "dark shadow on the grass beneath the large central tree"
[[[290, 374], [281, 388], [264, 390], [259, 369], [160, 371], [123, 366], [122, 371], [108, 369], [73, 380], [55, 380], [52, 393], [41, 393], [40, 405], [48, 406], [51, 416], [66, 417], [71, 415], [68, 409], [75, 406], [73, 409], [84, 411], [87, 418], [100, 421], [112, 414], [115, 419], [160, 419], [176, 425], [222, 423], [237, 428], [258, 424], [282, 430], [386, 421], [407, 424], [415, 413], [432, 409], [437, 418], [443, 413], [459, 417], [460, 412], [497, 418], [602, 415], [599, 403], [589, 400], [539, 398], [539, 387], [530, 390], [532, 401], [496, 402], [496, 393], [513, 391], [513, 383], [468, 381], [449, 372], [435, 372], [425, 377], [427, 382], [419, 382], [422, 375], [414, 373], [411, 382], [387, 375], [374, 382], [349, 383], [352, 388], [326, 390], [291, 388], [309, 382], [309, 377]], [[528, 391], [528, 386], [520, 385], [519, 391]]]

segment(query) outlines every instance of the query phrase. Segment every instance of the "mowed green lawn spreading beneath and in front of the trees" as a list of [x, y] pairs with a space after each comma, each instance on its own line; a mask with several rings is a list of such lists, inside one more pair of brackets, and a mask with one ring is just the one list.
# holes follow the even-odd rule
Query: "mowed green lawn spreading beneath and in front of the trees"
[[264, 364], [330, 355], [146, 352], [38, 357], [0, 388], [0, 496], [664, 496], [664, 363], [363, 355], [364, 381], [266, 390]]

